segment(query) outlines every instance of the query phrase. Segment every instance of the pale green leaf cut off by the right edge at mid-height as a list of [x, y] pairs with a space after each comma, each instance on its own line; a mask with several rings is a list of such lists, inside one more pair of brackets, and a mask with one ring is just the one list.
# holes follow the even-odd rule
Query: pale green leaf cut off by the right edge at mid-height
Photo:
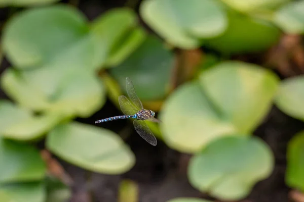
[[275, 101], [284, 113], [304, 121], [304, 76], [283, 80]]

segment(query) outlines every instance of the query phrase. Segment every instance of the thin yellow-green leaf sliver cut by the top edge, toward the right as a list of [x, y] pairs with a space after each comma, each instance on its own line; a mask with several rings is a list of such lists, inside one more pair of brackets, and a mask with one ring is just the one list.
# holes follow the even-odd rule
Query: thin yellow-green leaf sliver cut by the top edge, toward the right
[[275, 9], [290, 0], [221, 0], [230, 7], [242, 12], [267, 11]]

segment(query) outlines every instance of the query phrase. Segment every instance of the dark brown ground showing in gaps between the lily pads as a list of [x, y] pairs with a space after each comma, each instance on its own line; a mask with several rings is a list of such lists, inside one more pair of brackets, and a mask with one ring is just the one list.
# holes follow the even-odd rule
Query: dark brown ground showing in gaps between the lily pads
[[[93, 20], [103, 12], [116, 7], [122, 7], [127, 1], [62, 1], [78, 4], [79, 9]], [[138, 8], [139, 1], [129, 0], [128, 4]], [[0, 9], [0, 22], [9, 16], [8, 9]], [[0, 73], [9, 66], [4, 61]], [[0, 91], [0, 98], [8, 98]], [[89, 119], [77, 121], [94, 125], [94, 121], [102, 117], [117, 116], [120, 112], [108, 101], [101, 111]], [[207, 195], [194, 189], [187, 180], [186, 168], [191, 156], [181, 154], [166, 146], [159, 140], [156, 147], [147, 144], [140, 138], [130, 122], [108, 122], [103, 127], [122, 135], [136, 155], [136, 165], [123, 175], [103, 175], [92, 173], [60, 161], [66, 172], [72, 177], [74, 186], [71, 202], [114, 202], [117, 201], [118, 187], [122, 179], [131, 179], [139, 185], [139, 202], [165, 202], [178, 196], [193, 196], [206, 199]], [[254, 135], [267, 142], [276, 159], [272, 175], [257, 183], [250, 195], [242, 201], [252, 202], [286, 202], [290, 189], [285, 185], [286, 146], [290, 138], [298, 131], [304, 130], [304, 123], [295, 120], [275, 106], [268, 117], [256, 129]], [[126, 135], [127, 134], [127, 135]]]

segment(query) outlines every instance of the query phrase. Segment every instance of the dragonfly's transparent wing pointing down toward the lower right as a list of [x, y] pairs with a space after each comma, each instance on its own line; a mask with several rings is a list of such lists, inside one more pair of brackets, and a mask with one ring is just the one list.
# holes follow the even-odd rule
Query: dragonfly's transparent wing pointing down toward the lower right
[[135, 120], [133, 122], [134, 128], [137, 131], [137, 133], [142, 137], [144, 140], [146, 140], [148, 143], [155, 146], [157, 144], [156, 137], [152, 133], [152, 131], [149, 129], [148, 125], [142, 121], [142, 120]]

